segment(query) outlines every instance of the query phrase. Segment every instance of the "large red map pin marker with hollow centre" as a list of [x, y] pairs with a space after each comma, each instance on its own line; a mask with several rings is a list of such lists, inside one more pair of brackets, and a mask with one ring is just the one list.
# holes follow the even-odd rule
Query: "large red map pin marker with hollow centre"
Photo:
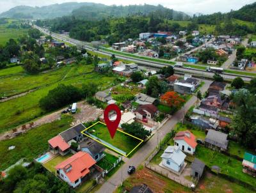
[[[116, 120], [115, 121], [109, 120], [108, 113], [110, 111], [115, 111], [116, 112]], [[113, 137], [116, 134], [116, 130], [118, 128], [118, 125], [121, 121], [121, 111], [120, 111], [119, 107], [115, 104], [108, 105], [108, 107], [106, 107], [106, 109], [104, 111], [104, 120], [105, 120], [105, 123], [108, 127], [109, 134], [111, 135], [111, 138], [113, 139]]]

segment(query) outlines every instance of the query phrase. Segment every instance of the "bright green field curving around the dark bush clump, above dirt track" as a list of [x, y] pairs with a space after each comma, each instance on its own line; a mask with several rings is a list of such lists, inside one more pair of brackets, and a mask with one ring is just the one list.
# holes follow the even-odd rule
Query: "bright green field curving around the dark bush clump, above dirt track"
[[28, 93], [25, 96], [14, 98], [6, 102], [0, 103], [0, 132], [10, 130], [35, 118], [45, 114], [39, 107], [40, 98], [47, 95], [49, 90], [54, 89], [58, 84], [72, 84], [81, 88], [82, 84], [95, 82], [99, 85], [99, 89], [106, 89], [115, 80], [115, 77], [106, 77], [102, 74], [92, 72], [88, 74], [76, 75], [75, 77], [67, 77], [58, 81], [51, 86], [45, 86], [36, 91]]

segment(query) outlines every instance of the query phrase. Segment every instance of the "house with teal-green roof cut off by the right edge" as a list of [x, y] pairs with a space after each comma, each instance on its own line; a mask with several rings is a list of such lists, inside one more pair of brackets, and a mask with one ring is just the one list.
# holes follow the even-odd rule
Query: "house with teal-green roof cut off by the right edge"
[[256, 176], [256, 155], [244, 153], [243, 172]]

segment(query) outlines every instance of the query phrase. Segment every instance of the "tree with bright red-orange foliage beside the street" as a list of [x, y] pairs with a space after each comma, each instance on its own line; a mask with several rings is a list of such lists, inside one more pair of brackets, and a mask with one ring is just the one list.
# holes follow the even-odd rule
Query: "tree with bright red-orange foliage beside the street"
[[185, 100], [180, 97], [180, 95], [174, 91], [168, 91], [161, 96], [161, 102], [170, 107], [179, 107]]

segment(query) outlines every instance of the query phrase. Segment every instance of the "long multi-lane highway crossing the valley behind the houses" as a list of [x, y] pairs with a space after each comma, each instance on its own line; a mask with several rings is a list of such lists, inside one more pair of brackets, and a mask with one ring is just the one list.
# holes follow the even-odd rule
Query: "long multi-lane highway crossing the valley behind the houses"
[[[81, 49], [81, 48], [84, 47], [87, 50], [91, 50], [91, 51], [99, 53], [99, 54], [104, 54], [106, 56], [111, 56], [113, 54], [111, 52], [106, 52], [105, 50], [96, 50], [95, 48], [91, 47], [88, 42], [83, 42], [83, 41], [79, 41], [79, 40], [70, 38], [70, 37], [65, 36], [65, 35], [52, 33], [48, 29], [44, 29], [42, 27], [38, 27], [38, 26], [35, 26], [35, 25], [33, 27], [40, 30], [42, 33], [45, 33], [46, 35], [51, 35], [52, 38], [56, 38], [56, 39], [62, 40], [64, 42], [70, 43], [70, 44], [76, 46], [78, 49]], [[211, 41], [209, 41], [207, 43], [211, 43]], [[202, 46], [203, 45], [201, 45], [200, 47], [196, 47], [193, 50], [198, 50]], [[190, 50], [189, 52], [192, 52], [193, 50]], [[116, 54], [116, 53], [115, 53], [115, 56], [117, 56], [120, 59], [132, 61], [134, 63], [137, 63], [139, 66], [141, 66], [141, 67], [143, 66], [144, 68], [147, 68], [147, 69], [150, 69], [150, 70], [157, 70], [157, 69], [163, 68], [164, 66], [169, 66], [170, 65], [170, 64], [167, 64], [167, 63], [164, 64], [164, 63], [159, 63], [159, 62], [156, 62], [156, 61], [148, 61], [146, 59], [132, 58], [131, 56], [122, 56], [122, 55]], [[196, 69], [196, 68], [174, 67], [174, 70], [175, 70], [175, 72], [178, 72], [178, 73], [191, 73], [192, 75], [195, 75], [197, 77], [202, 77], [202, 78], [204, 78], [204, 77], [205, 78], [212, 78], [212, 76], [214, 75], [214, 73], [212, 73], [212, 72], [206, 72], [206, 70], [199, 70], [199, 69]], [[221, 76], [223, 77], [223, 79], [226, 79], [226, 80], [233, 80], [236, 77], [241, 77], [244, 81], [250, 81], [252, 79], [252, 77], [250, 77], [250, 76], [234, 75], [232, 73], [223, 73], [223, 74], [221, 74]]]

